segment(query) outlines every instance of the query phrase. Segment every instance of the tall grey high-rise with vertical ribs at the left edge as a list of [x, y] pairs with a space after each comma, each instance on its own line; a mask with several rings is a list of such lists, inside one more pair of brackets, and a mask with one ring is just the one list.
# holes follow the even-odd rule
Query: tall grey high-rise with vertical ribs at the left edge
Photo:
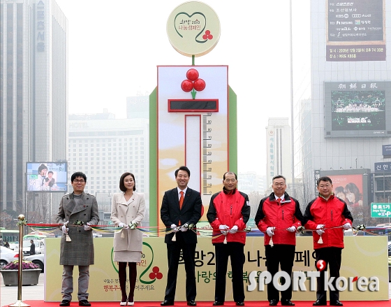
[[54, 0], [0, 0], [0, 101], [0, 210], [37, 210], [26, 163], [68, 148], [68, 20]]

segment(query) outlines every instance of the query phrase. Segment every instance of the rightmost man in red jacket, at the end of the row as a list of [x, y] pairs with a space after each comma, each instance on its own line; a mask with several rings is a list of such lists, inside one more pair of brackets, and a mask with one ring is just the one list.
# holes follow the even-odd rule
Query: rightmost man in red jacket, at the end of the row
[[329, 177], [320, 177], [317, 182], [319, 196], [310, 201], [304, 219], [307, 220], [307, 229], [317, 229], [312, 232], [313, 249], [316, 262], [322, 259], [325, 269], [320, 271], [317, 278], [316, 302], [313, 306], [326, 306], [327, 293], [325, 290], [325, 271], [330, 265], [330, 277], [334, 277], [330, 288], [330, 306], [344, 306], [339, 301], [339, 291], [335, 287], [335, 280], [339, 278], [341, 268], [341, 253], [344, 248], [344, 229], [352, 228], [353, 217], [348, 210], [348, 205], [342, 199], [334, 196], [332, 192], [332, 180]]

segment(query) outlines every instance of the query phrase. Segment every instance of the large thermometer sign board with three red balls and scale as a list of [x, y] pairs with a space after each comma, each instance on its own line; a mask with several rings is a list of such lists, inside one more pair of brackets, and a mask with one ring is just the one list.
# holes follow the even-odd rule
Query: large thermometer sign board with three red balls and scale
[[[228, 66], [158, 66], [156, 130], [158, 212], [164, 192], [177, 186], [175, 170], [186, 165], [206, 220], [223, 173], [237, 171], [236, 96], [228, 86]], [[163, 227], [160, 218], [158, 223]]]

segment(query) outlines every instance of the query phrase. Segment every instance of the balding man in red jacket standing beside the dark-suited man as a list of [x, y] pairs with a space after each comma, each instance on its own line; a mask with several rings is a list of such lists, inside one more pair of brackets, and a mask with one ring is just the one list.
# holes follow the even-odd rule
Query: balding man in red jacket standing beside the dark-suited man
[[[246, 222], [250, 217], [249, 197], [239, 192], [237, 176], [233, 172], [223, 175], [223, 191], [212, 195], [207, 219], [213, 228], [216, 254], [216, 286], [213, 306], [224, 305], [226, 297], [226, 274], [228, 257], [233, 272], [233, 299], [236, 306], [244, 306], [244, 244]], [[239, 231], [239, 232], [238, 232]]]

